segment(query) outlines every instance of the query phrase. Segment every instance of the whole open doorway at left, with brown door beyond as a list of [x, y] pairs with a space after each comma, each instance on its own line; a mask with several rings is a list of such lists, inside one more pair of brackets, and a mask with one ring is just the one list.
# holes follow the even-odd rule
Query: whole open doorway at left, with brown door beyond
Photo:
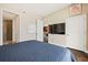
[[8, 11], [3, 11], [3, 44], [14, 44], [17, 43], [18, 35], [18, 15]]

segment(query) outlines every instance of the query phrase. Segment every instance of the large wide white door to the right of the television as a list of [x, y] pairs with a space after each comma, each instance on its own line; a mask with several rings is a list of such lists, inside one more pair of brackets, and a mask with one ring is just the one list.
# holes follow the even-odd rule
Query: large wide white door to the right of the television
[[67, 46], [85, 50], [85, 17], [78, 15], [66, 20]]

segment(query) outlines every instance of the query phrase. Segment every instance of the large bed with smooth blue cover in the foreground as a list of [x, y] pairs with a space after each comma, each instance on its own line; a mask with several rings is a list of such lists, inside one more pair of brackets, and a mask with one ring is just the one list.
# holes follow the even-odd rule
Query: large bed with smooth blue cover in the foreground
[[66, 47], [39, 41], [25, 41], [0, 46], [0, 62], [75, 62]]

